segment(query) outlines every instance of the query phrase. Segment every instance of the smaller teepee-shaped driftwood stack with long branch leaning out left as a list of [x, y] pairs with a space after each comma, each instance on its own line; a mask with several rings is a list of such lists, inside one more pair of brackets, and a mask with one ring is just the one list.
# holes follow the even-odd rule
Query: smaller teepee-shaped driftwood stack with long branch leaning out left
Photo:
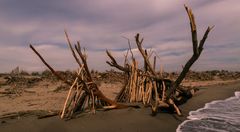
[[86, 53], [83, 52], [80, 43], [72, 47], [67, 32], [65, 35], [68, 41], [69, 48], [73, 57], [79, 65], [77, 70], [76, 79], [69, 81], [67, 78], [63, 78], [57, 71], [55, 71], [38, 53], [38, 51], [30, 44], [30, 48], [37, 54], [41, 61], [48, 67], [48, 69], [60, 80], [70, 86], [66, 101], [61, 112], [61, 118], [71, 118], [75, 112], [82, 112], [91, 110], [95, 113], [97, 108], [101, 109], [121, 109], [127, 107], [136, 107], [135, 105], [125, 105], [117, 103], [114, 100], [107, 98], [98, 88], [96, 83], [93, 82], [90, 74]]

